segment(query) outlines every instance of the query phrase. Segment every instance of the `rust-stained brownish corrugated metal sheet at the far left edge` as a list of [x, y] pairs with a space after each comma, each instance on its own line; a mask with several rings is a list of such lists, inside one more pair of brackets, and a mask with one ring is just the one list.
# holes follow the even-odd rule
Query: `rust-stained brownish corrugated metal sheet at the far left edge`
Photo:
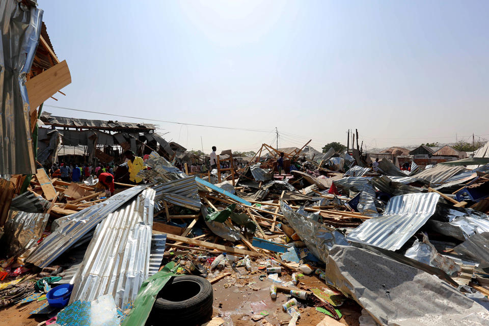
[[31, 248], [41, 238], [49, 214], [29, 213], [11, 209], [4, 226], [4, 237], [9, 244], [9, 257]]

